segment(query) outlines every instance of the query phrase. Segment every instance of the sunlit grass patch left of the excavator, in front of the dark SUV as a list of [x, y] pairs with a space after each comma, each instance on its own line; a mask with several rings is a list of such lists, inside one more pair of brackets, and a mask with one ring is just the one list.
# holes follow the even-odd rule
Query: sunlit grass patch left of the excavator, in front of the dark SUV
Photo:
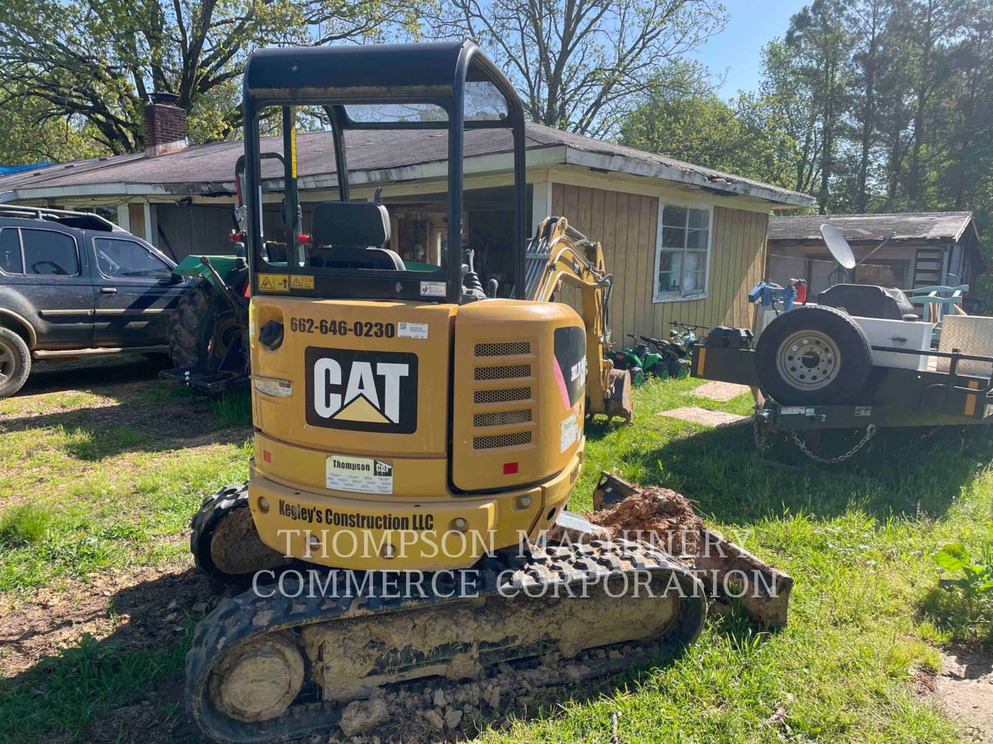
[[[182, 534], [204, 495], [247, 476], [250, 415], [239, 403], [158, 381], [123, 401], [76, 391], [11, 401], [18, 418], [0, 420], [0, 493], [10, 495], [0, 501], [0, 592], [184, 559]], [[164, 407], [202, 422], [207, 443], [177, 448], [175, 434], [156, 431]], [[129, 421], [141, 410], [150, 415]], [[232, 427], [244, 437], [210, 440]]]

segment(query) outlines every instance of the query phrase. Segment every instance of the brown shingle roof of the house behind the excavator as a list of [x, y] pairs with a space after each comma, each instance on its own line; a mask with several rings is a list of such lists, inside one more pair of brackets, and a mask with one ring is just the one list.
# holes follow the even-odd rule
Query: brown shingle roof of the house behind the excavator
[[[444, 162], [448, 138], [435, 130], [349, 130], [346, 133], [349, 172], [384, 174], [375, 181], [388, 181], [397, 169]], [[778, 205], [809, 206], [812, 197], [780, 186], [763, 184], [732, 174], [655, 155], [634, 148], [601, 142], [589, 137], [561, 132], [538, 124], [527, 124], [529, 153], [564, 148], [564, 162], [590, 165], [603, 170], [662, 179], [697, 186], [724, 195], [742, 194]], [[281, 151], [281, 139], [262, 140], [263, 151]], [[505, 130], [470, 130], [465, 135], [467, 158], [499, 155], [510, 151], [510, 135]], [[0, 177], [0, 200], [40, 197], [61, 189], [109, 192], [115, 185], [160, 186], [172, 193], [229, 193], [233, 188], [234, 163], [242, 152], [240, 141], [198, 145], [152, 158], [141, 154], [119, 155], [74, 161]], [[302, 186], [307, 177], [333, 177], [335, 158], [330, 132], [300, 134], [297, 139], [298, 174]], [[586, 156], [586, 157], [584, 157]], [[591, 166], [592, 167], [592, 166]], [[280, 178], [275, 161], [263, 162], [263, 177]], [[327, 180], [322, 180], [327, 181]], [[125, 189], [123, 192], [129, 192]]]

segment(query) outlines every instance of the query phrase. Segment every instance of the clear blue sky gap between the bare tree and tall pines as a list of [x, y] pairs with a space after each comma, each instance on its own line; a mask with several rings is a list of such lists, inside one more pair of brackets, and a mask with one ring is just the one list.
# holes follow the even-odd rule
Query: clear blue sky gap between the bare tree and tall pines
[[696, 57], [716, 78], [727, 75], [719, 90], [731, 98], [739, 90], [756, 90], [762, 74], [762, 48], [782, 36], [789, 17], [810, 0], [723, 0], [728, 9], [728, 25], [708, 41]]

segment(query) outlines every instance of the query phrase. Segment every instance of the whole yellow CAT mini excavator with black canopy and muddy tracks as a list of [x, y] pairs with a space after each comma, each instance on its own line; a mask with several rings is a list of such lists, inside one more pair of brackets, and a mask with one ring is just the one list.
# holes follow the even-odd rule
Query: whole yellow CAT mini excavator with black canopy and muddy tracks
[[[380, 687], [692, 642], [706, 597], [671, 556], [540, 539], [579, 475], [584, 421], [630, 421], [630, 378], [604, 358], [600, 244], [556, 217], [527, 240], [523, 111], [497, 67], [472, 43], [265, 50], [242, 113], [255, 456], [243, 487], [204, 503], [191, 546], [214, 579], [256, 580], [195, 633], [202, 730], [301, 736]], [[305, 152], [304, 116], [328, 122], [333, 153]], [[260, 123], [280, 120], [281, 153], [264, 151]], [[447, 153], [444, 229], [415, 257], [388, 204], [350, 198], [347, 152], [383, 129]], [[482, 256], [463, 229], [470, 137], [506, 138], [512, 160], [512, 239]], [[337, 173], [337, 199], [306, 211], [304, 156]], [[563, 282], [582, 315], [550, 302]]]

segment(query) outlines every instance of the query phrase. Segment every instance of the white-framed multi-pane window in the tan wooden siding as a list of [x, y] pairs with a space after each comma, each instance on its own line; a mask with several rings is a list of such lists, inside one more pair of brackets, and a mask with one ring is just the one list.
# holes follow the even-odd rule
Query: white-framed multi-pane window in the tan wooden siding
[[710, 217], [709, 208], [659, 205], [654, 302], [706, 294]]

